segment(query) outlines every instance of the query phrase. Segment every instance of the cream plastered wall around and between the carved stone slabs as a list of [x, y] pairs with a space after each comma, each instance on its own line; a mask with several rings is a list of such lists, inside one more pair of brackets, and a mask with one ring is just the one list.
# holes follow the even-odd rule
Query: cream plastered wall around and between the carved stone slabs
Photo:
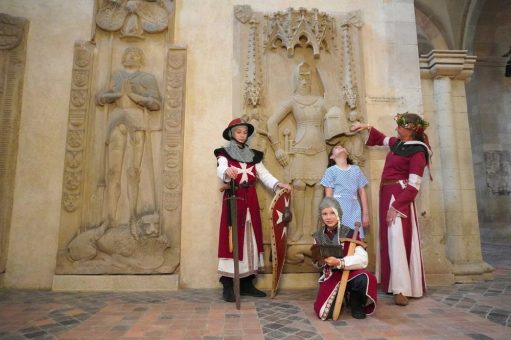
[[[18, 0], [0, 5], [0, 12], [30, 21], [11, 236], [3, 275], [7, 287], [126, 289], [126, 285], [121, 287], [113, 279], [105, 283], [104, 277], [85, 276], [71, 278], [66, 286], [59, 281], [64, 275], [54, 275], [62, 227], [73, 52], [76, 41], [87, 42], [93, 36], [94, 4], [93, 0], [44, 3]], [[175, 273], [181, 288], [218, 286], [216, 251], [222, 196], [215, 177], [213, 150], [224, 145], [221, 132], [239, 114], [235, 103], [239, 104], [240, 98], [236, 97], [238, 85], [234, 79], [239, 77], [243, 66], [236, 63], [235, 56], [239, 33], [235, 28], [235, 5], [250, 5], [254, 11], [269, 13], [288, 7], [319, 8], [334, 15], [360, 11], [364, 23], [360, 30], [362, 67], [359, 72], [364, 84], [363, 119], [391, 135], [396, 111], [423, 112], [412, 0], [176, 1], [173, 41], [185, 44], [187, 49], [185, 153], [180, 183], [182, 208], [178, 218], [181, 254]], [[372, 228], [368, 239], [372, 244], [373, 268], [378, 183], [386, 152], [369, 150], [364, 168], [370, 180]], [[433, 176], [441, 178], [442, 175], [437, 172]], [[421, 204], [431, 214], [442, 209], [434, 207], [428, 199]], [[432, 227], [443, 228], [442, 225]], [[426, 225], [423, 234], [426, 242], [430, 241], [428, 233], [432, 227]], [[440, 256], [445, 255], [441, 247], [436, 251]], [[315, 274], [304, 275], [290, 274], [284, 277], [282, 285], [316, 285]], [[268, 287], [269, 281], [266, 275], [259, 284]], [[140, 280], [137, 284], [143, 287]], [[158, 287], [164, 288], [165, 284], [169, 289], [175, 288], [172, 282], [161, 281]]]

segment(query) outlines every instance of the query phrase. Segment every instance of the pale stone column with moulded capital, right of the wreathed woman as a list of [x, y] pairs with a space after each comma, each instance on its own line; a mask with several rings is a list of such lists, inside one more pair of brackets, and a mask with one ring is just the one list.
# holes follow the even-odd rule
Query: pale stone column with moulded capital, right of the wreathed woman
[[476, 57], [461, 50], [433, 50], [421, 58], [421, 77], [433, 83], [432, 126], [438, 133], [436, 159], [444, 214], [447, 257], [455, 282], [491, 279], [493, 268], [482, 260], [475, 199], [465, 82]]

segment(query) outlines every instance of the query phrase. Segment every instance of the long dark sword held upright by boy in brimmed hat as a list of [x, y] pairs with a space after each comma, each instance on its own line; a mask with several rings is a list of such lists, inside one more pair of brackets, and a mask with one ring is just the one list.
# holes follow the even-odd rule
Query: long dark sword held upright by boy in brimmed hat
[[[234, 296], [236, 298], [236, 309], [240, 309], [240, 260], [238, 254], [238, 211], [237, 197], [234, 180], [231, 179], [230, 189], [227, 192], [227, 204], [229, 207], [229, 246], [232, 242], [232, 259], [234, 262]], [[232, 230], [232, 234], [231, 234]]]

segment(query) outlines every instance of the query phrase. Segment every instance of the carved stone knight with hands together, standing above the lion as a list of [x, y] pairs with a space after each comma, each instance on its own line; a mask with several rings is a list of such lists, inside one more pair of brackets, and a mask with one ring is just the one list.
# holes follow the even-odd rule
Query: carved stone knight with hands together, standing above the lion
[[[129, 205], [129, 225], [134, 238], [138, 238], [137, 228], [141, 216], [137, 215], [137, 201], [140, 191], [140, 174], [144, 152], [151, 153], [151, 132], [149, 115], [161, 107], [161, 95], [154, 75], [140, 71], [144, 54], [137, 47], [124, 51], [124, 69], [113, 73], [111, 88], [97, 94], [97, 104], [114, 104], [108, 114], [107, 154], [106, 154], [106, 209], [107, 226], [119, 225], [117, 210], [121, 196], [121, 177], [126, 174]], [[149, 143], [147, 143], [149, 142]], [[149, 144], [149, 145], [146, 145]], [[128, 146], [131, 148], [127, 152]], [[144, 151], [145, 150], [145, 151]], [[152, 157], [148, 157], [152, 163]], [[148, 164], [149, 175], [153, 180], [154, 164]], [[146, 188], [146, 190], [148, 190]], [[153, 202], [155, 203], [155, 202]], [[156, 204], [154, 204], [156, 208]], [[154, 212], [148, 212], [152, 214]]]

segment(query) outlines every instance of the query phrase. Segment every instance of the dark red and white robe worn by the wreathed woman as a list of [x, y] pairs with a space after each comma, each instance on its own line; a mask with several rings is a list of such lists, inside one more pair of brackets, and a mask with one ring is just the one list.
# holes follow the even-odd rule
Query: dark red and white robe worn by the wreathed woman
[[[387, 137], [375, 128], [371, 128], [366, 144], [391, 148], [422, 144], [423, 150], [429, 152], [424, 143], [403, 142], [396, 137]], [[380, 242], [376, 266], [376, 276], [385, 292], [421, 297], [426, 291], [415, 209], [415, 197], [420, 189], [424, 168], [428, 164], [426, 157], [425, 152], [421, 151], [407, 156], [391, 151], [385, 159], [380, 185]], [[386, 222], [389, 209], [398, 212], [398, 217], [391, 225]]]

